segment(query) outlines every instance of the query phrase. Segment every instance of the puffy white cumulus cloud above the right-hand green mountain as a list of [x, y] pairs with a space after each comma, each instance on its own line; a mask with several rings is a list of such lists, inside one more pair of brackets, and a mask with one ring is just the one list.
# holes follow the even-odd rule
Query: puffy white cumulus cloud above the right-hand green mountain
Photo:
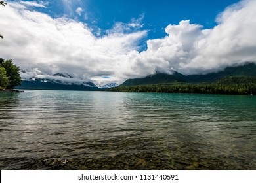
[[256, 62], [256, 1], [241, 1], [217, 16], [218, 25], [202, 25], [182, 20], [168, 25], [167, 36], [148, 40], [148, 49], [133, 53], [127, 71], [144, 76], [175, 69], [185, 75], [218, 71], [235, 63]]

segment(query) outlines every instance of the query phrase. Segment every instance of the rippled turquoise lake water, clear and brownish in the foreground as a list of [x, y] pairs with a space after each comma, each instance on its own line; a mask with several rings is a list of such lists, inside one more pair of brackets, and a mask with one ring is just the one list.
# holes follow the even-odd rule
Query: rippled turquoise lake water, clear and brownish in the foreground
[[1, 169], [256, 169], [256, 97], [0, 92]]

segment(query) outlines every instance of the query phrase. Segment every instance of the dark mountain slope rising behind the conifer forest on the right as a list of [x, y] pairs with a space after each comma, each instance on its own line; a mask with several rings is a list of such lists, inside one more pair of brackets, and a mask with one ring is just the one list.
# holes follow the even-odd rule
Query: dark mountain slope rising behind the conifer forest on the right
[[146, 78], [129, 79], [123, 82], [120, 86], [138, 86], [147, 84], [167, 84], [167, 83], [210, 83], [221, 80], [228, 76], [249, 76], [256, 77], [256, 64], [246, 63], [245, 65], [234, 65], [233, 67], [226, 67], [223, 71], [216, 73], [209, 73], [206, 75], [182, 75], [173, 71], [173, 75], [164, 73], [156, 73], [154, 75], [146, 76]]

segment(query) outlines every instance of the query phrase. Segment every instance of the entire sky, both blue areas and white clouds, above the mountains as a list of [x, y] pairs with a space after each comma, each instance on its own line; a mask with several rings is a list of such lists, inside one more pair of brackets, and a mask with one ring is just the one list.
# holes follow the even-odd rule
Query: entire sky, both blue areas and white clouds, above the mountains
[[6, 2], [0, 58], [26, 79], [68, 73], [100, 86], [256, 62], [256, 0]]

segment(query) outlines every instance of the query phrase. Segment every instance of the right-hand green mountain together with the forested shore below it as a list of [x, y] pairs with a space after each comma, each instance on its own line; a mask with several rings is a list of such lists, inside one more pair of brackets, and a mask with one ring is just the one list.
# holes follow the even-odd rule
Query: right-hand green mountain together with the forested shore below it
[[226, 67], [223, 71], [207, 75], [173, 75], [156, 73], [146, 78], [130, 79], [110, 91], [164, 92], [205, 94], [256, 94], [256, 64], [245, 63]]

